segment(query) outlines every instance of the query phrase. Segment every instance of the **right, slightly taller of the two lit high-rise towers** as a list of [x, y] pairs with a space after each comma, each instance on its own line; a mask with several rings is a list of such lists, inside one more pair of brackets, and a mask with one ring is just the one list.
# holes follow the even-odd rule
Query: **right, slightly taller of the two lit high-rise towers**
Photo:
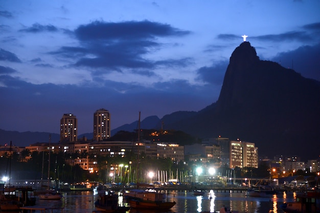
[[111, 135], [110, 113], [108, 110], [100, 109], [94, 113], [94, 140], [102, 141]]

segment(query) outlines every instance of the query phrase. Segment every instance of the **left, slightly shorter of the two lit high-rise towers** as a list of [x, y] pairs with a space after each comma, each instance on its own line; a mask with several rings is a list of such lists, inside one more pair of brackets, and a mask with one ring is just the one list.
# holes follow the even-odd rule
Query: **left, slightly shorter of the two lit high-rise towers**
[[73, 114], [63, 114], [60, 120], [60, 141], [77, 141], [78, 119]]

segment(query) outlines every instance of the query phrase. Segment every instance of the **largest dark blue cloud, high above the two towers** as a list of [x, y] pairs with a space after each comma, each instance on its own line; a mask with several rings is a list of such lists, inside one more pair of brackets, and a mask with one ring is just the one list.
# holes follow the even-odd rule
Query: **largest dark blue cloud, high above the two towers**
[[[79, 26], [74, 34], [80, 47], [62, 47], [52, 54], [76, 59], [74, 66], [104, 71], [119, 71], [123, 68], [140, 70], [154, 69], [156, 66], [186, 66], [189, 59], [151, 61], [144, 55], [157, 51], [162, 44], [157, 37], [185, 36], [183, 31], [170, 25], [149, 22], [93, 22]], [[148, 72], [149, 73], [149, 72]], [[149, 73], [150, 74], [150, 73]]]

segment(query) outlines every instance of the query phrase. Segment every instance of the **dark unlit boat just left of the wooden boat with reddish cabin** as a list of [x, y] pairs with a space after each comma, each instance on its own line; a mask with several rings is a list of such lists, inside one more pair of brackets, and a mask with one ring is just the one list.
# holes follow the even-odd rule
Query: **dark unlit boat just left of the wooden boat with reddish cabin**
[[107, 194], [99, 195], [98, 200], [95, 202], [95, 207], [98, 211], [102, 212], [126, 212], [130, 209], [129, 206], [120, 206], [118, 204], [118, 195]]

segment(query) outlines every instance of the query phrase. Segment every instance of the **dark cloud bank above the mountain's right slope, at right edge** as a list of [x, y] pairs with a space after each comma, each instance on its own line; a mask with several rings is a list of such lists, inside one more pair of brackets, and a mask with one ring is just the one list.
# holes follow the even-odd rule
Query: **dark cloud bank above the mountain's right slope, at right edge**
[[290, 52], [279, 53], [272, 58], [285, 68], [293, 69], [302, 76], [320, 81], [320, 43], [315, 46], [302, 46]]

